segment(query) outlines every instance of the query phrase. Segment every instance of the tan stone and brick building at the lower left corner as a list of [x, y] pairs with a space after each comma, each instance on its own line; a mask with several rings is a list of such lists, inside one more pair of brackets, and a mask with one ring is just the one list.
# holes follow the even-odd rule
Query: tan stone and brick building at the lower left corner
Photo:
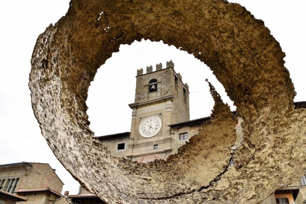
[[[19, 199], [22, 204], [68, 204], [61, 194], [63, 185], [49, 164], [20, 162], [0, 165], [0, 195], [14, 195], [14, 199]], [[2, 203], [9, 202], [0, 196]]]

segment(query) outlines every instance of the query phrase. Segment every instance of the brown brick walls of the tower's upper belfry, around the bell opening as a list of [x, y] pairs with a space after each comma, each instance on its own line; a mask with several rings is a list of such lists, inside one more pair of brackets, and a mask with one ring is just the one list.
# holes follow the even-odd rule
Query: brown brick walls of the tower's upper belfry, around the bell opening
[[[157, 91], [149, 92], [150, 80], [157, 80]], [[186, 103], [184, 102], [183, 83], [178, 81], [175, 90], [175, 72], [172, 68], [165, 68], [136, 77], [135, 102], [146, 102], [156, 98], [173, 95], [172, 102], [172, 124], [189, 120], [189, 94], [186, 91]]]

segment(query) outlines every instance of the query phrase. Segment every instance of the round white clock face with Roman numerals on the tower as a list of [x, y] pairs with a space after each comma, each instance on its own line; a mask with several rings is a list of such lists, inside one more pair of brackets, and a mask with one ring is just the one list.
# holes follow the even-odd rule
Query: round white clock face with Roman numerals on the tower
[[139, 124], [139, 133], [141, 136], [149, 138], [157, 135], [162, 126], [162, 121], [159, 117], [153, 116], [144, 119]]

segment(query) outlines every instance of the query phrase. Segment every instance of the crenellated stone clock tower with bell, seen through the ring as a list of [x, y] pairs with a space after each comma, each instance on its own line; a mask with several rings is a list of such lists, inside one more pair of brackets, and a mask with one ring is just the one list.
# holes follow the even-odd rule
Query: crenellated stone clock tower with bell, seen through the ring
[[174, 70], [172, 60], [137, 69], [135, 102], [132, 112], [127, 157], [135, 161], [166, 158], [172, 151], [170, 124], [189, 120], [188, 85]]

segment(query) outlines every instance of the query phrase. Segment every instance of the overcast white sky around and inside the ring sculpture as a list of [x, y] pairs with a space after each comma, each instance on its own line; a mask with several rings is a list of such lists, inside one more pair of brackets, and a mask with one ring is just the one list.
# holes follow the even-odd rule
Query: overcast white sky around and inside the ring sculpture
[[[287, 55], [285, 66], [297, 91], [294, 101], [306, 101], [306, 1], [235, 2], [262, 19], [271, 30]], [[49, 163], [65, 183], [63, 191], [76, 194], [79, 184], [57, 161], [41, 136], [28, 88], [30, 60], [37, 36], [66, 14], [68, 3], [68, 0], [0, 0], [0, 164]], [[150, 65], [155, 68], [160, 62], [165, 68], [170, 59], [176, 72], [182, 74], [183, 82], [189, 85], [190, 119], [208, 116], [213, 107], [205, 78], [215, 85], [225, 102], [232, 104], [209, 68], [191, 55], [162, 43], [135, 42], [121, 46], [98, 70], [90, 86], [87, 113], [96, 136], [130, 131], [132, 110], [127, 104], [134, 100], [136, 69]], [[102, 98], [105, 95], [107, 97]], [[125, 121], [122, 126], [113, 125], [119, 118]]]

